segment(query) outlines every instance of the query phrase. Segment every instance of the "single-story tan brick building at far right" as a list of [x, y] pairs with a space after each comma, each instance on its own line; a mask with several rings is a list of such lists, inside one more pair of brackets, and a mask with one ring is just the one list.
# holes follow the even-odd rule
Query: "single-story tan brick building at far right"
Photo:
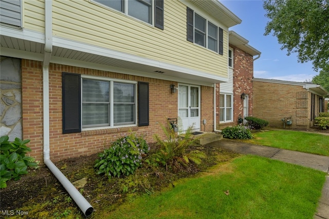
[[327, 95], [317, 84], [254, 78], [253, 116], [271, 127], [309, 128], [324, 112]]

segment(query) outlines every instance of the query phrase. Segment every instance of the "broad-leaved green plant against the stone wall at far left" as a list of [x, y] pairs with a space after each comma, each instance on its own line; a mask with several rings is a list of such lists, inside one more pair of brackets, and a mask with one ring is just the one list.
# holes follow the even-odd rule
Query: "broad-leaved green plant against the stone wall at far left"
[[27, 174], [28, 167], [36, 167], [34, 158], [25, 156], [31, 149], [26, 146], [30, 140], [15, 138], [9, 142], [8, 136], [0, 138], [0, 189], [7, 187], [7, 181], [19, 180], [21, 175]]

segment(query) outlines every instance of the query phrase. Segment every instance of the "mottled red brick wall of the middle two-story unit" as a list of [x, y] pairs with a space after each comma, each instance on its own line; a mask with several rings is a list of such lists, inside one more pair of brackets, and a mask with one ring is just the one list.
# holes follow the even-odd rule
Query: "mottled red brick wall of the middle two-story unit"
[[[241, 94], [245, 93], [249, 95], [248, 103], [248, 115], [251, 116], [253, 113], [253, 57], [251, 54], [233, 46], [233, 122], [230, 123], [220, 123], [219, 115], [217, 118], [217, 129], [224, 129], [230, 125], [236, 125], [239, 115], [243, 116], [243, 100], [241, 100]], [[218, 85], [218, 90], [219, 86]], [[216, 90], [216, 105], [218, 105], [219, 113], [219, 95], [218, 90]]]

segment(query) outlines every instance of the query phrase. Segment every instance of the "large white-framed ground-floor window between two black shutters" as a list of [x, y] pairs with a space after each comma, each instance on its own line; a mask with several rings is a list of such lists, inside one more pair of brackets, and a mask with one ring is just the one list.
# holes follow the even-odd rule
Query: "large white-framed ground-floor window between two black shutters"
[[136, 124], [136, 82], [81, 78], [82, 128]]

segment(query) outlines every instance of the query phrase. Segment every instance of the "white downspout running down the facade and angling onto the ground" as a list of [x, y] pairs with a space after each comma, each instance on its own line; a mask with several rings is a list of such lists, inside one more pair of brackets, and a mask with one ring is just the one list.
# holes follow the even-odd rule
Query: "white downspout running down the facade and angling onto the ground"
[[45, 53], [42, 66], [43, 74], [43, 156], [44, 163], [54, 176], [61, 182], [71, 198], [79, 206], [85, 216], [90, 216], [94, 208], [87, 202], [75, 186], [64, 176], [64, 174], [50, 160], [50, 138], [49, 138], [49, 63], [52, 52], [52, 1], [45, 1]]

